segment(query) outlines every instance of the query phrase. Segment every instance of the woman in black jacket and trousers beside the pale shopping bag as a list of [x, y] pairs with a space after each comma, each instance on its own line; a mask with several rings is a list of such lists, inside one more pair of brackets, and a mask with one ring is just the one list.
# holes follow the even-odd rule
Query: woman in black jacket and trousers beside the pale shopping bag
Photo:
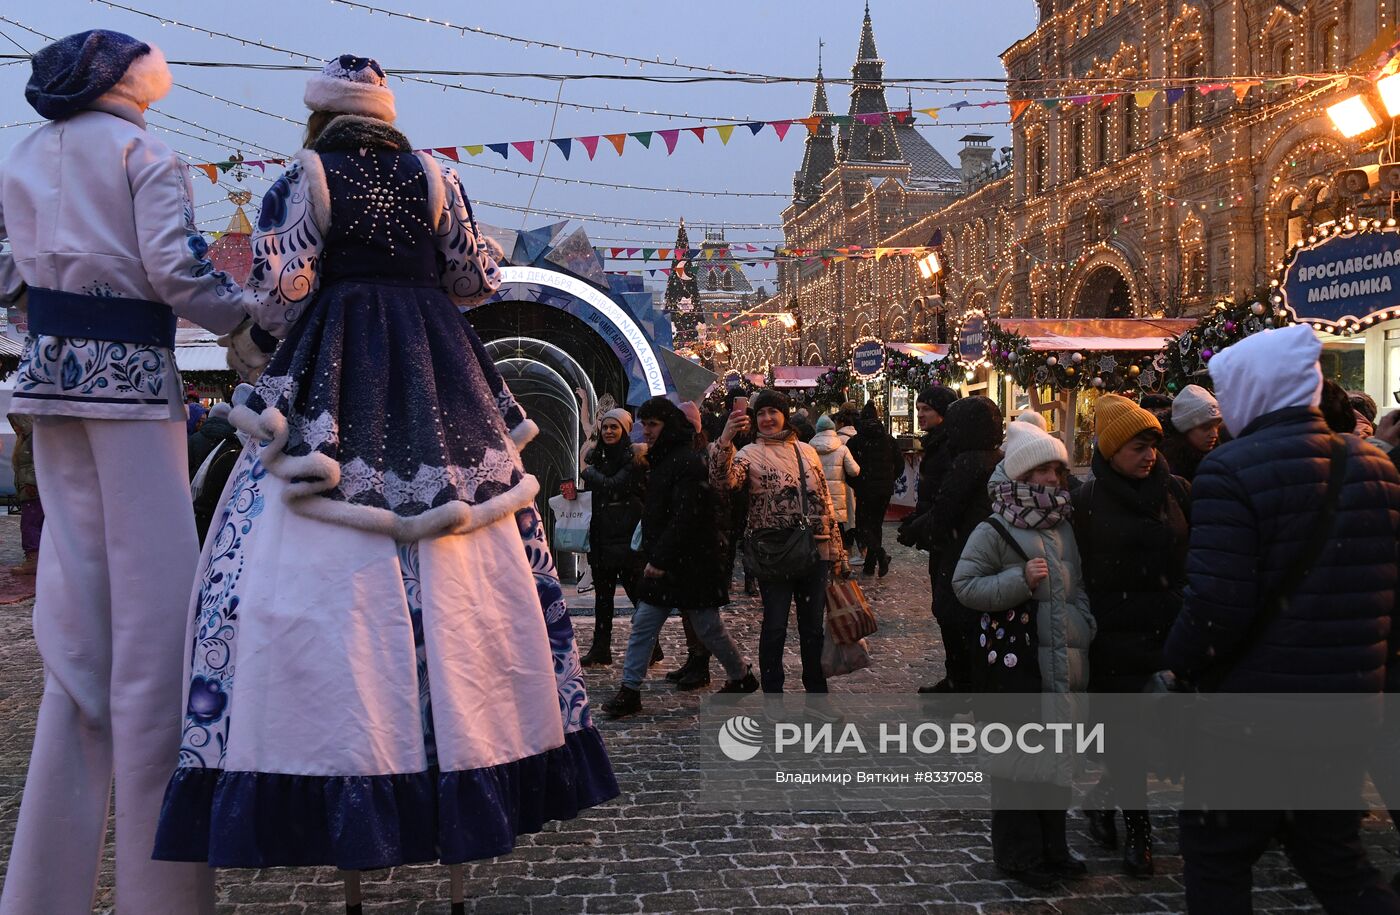
[[627, 599], [637, 606], [633, 585], [637, 578], [637, 554], [631, 534], [641, 520], [645, 469], [636, 459], [629, 441], [631, 414], [619, 407], [605, 413], [599, 423], [601, 441], [584, 456], [580, 474], [594, 494], [594, 516], [588, 525], [588, 565], [594, 571], [594, 645], [580, 662], [585, 667], [612, 663], [613, 595], [619, 581]]

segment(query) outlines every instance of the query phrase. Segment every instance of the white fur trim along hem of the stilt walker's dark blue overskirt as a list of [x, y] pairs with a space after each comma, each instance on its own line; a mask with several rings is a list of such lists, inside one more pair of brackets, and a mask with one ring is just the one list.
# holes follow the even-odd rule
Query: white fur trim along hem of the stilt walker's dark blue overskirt
[[[505, 492], [477, 505], [448, 502], [421, 515], [405, 518], [386, 508], [353, 505], [322, 495], [339, 485], [340, 464], [319, 452], [301, 458], [283, 453], [281, 449], [287, 445], [287, 420], [280, 410], [267, 407], [259, 414], [239, 404], [228, 414], [228, 421], [249, 435], [263, 466], [287, 483], [283, 491], [287, 508], [304, 518], [386, 534], [399, 543], [469, 533], [532, 505], [539, 495], [539, 480], [525, 474]], [[526, 424], [535, 425], [526, 420], [515, 428], [524, 428]]]

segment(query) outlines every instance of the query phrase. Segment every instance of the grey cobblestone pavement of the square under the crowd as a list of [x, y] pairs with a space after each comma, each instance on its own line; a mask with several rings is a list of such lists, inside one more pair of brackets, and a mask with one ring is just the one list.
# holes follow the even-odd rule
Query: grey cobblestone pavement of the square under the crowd
[[[0, 518], [0, 562], [15, 560], [18, 523]], [[892, 540], [892, 539], [890, 539]], [[890, 544], [893, 546], [893, 544]], [[874, 669], [833, 680], [833, 691], [909, 693], [942, 669], [928, 614], [927, 565], [921, 554], [896, 548], [889, 578], [868, 593], [881, 618], [871, 638]], [[626, 600], [619, 593], [619, 602]], [[578, 641], [589, 645], [591, 600], [580, 602]], [[0, 607], [0, 862], [8, 859], [28, 761], [42, 676], [29, 632], [29, 603]], [[736, 600], [727, 620], [742, 648], [757, 649], [756, 599]], [[617, 663], [591, 670], [599, 705], [617, 687], [629, 624], [613, 632]], [[1035, 897], [998, 877], [990, 863], [988, 817], [981, 813], [731, 813], [706, 806], [704, 785], [682, 769], [697, 735], [697, 693], [676, 693], [661, 679], [683, 655], [679, 620], [662, 634], [666, 660], [644, 693], [645, 714], [602, 722], [623, 793], [578, 820], [524, 837], [510, 856], [468, 869], [470, 908], [477, 912], [1179, 912], [1182, 863], [1175, 818], [1154, 814], [1158, 876], [1119, 876], [1114, 858], [1091, 846], [1084, 820], [1071, 816], [1071, 845], [1092, 874], [1064, 891]], [[795, 634], [788, 646], [790, 683], [797, 680]], [[717, 683], [718, 666], [714, 669]], [[1368, 820], [1372, 860], [1396, 867], [1396, 837], [1387, 821]], [[98, 911], [109, 909], [111, 862], [101, 880]], [[3, 876], [0, 863], [0, 876]], [[445, 914], [444, 867], [396, 867], [365, 874], [365, 912]], [[1261, 912], [1317, 911], [1312, 895], [1278, 852], [1256, 869]], [[221, 872], [220, 912], [301, 915], [343, 911], [342, 888], [329, 869]], [[1072, 893], [1072, 895], [1071, 895]]]

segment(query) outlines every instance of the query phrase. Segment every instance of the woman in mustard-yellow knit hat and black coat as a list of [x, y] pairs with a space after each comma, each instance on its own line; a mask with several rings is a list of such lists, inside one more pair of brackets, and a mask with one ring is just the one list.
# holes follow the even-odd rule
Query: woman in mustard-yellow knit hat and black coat
[[[1089, 649], [1091, 693], [1140, 693], [1163, 669], [1162, 646], [1182, 609], [1190, 484], [1172, 476], [1156, 446], [1158, 418], [1119, 395], [1095, 404], [1093, 478], [1074, 497], [1074, 529], [1089, 609], [1099, 624]], [[1147, 814], [1149, 760], [1142, 740], [1114, 742], [1093, 800], [1089, 834], [1117, 846], [1116, 810], [1127, 832], [1123, 870], [1152, 873]]]

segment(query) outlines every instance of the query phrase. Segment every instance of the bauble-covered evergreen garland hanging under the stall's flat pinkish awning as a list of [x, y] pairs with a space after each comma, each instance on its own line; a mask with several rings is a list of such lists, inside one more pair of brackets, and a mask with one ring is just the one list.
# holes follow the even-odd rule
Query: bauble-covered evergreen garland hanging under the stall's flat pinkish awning
[[1050, 385], [1128, 395], [1159, 390], [1166, 369], [1163, 353], [1036, 353], [1028, 339], [995, 322], [987, 323], [987, 361], [1022, 388]]

